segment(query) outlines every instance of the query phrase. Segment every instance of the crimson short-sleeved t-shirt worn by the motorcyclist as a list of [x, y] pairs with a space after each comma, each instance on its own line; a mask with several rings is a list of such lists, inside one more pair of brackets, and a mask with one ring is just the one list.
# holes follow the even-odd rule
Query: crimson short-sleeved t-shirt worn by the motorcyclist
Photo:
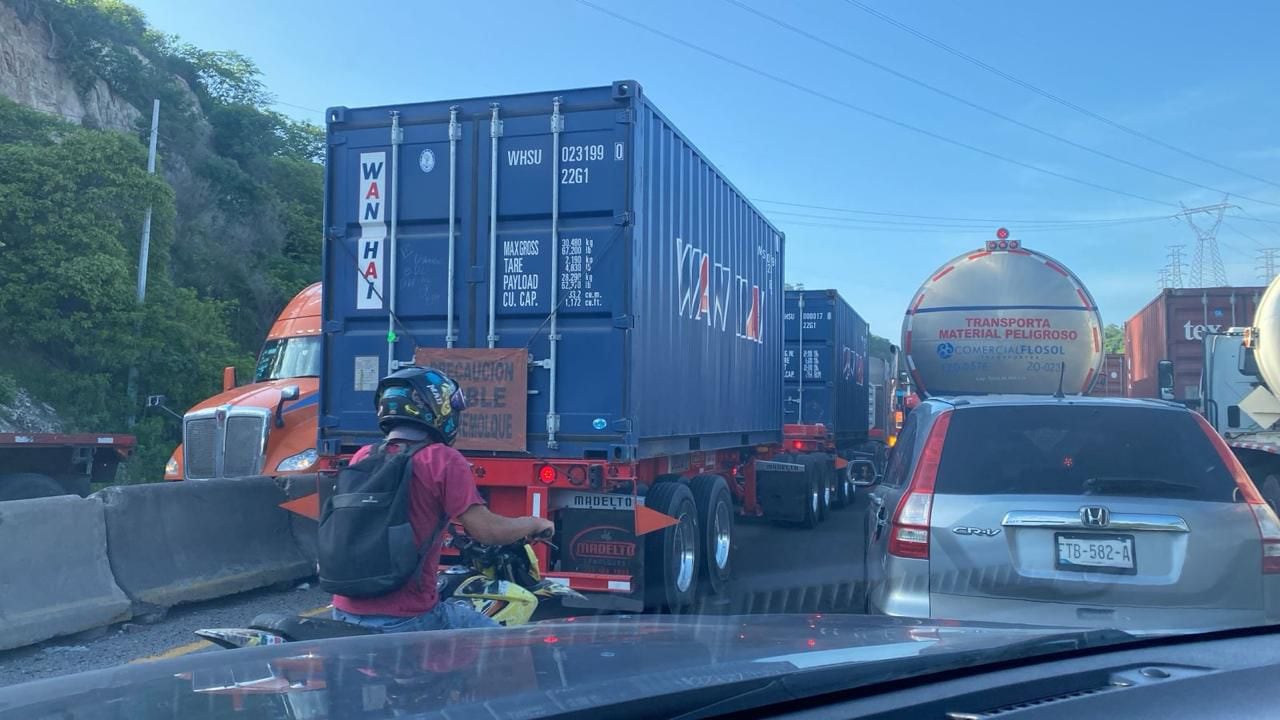
[[[362, 460], [374, 446], [361, 447], [351, 457], [351, 464]], [[389, 452], [399, 452], [399, 445], [392, 445]], [[426, 542], [440, 523], [442, 512], [449, 519], [467, 511], [472, 505], [484, 505], [480, 491], [476, 489], [471, 465], [462, 454], [452, 447], [435, 443], [413, 456], [413, 484], [410, 487], [408, 519], [413, 527], [413, 539], [419, 544]], [[422, 559], [422, 582], [410, 580], [398, 591], [380, 597], [333, 596], [333, 606], [353, 615], [393, 615], [412, 618], [435, 607], [435, 573], [440, 565], [442, 532], [435, 543]]]

